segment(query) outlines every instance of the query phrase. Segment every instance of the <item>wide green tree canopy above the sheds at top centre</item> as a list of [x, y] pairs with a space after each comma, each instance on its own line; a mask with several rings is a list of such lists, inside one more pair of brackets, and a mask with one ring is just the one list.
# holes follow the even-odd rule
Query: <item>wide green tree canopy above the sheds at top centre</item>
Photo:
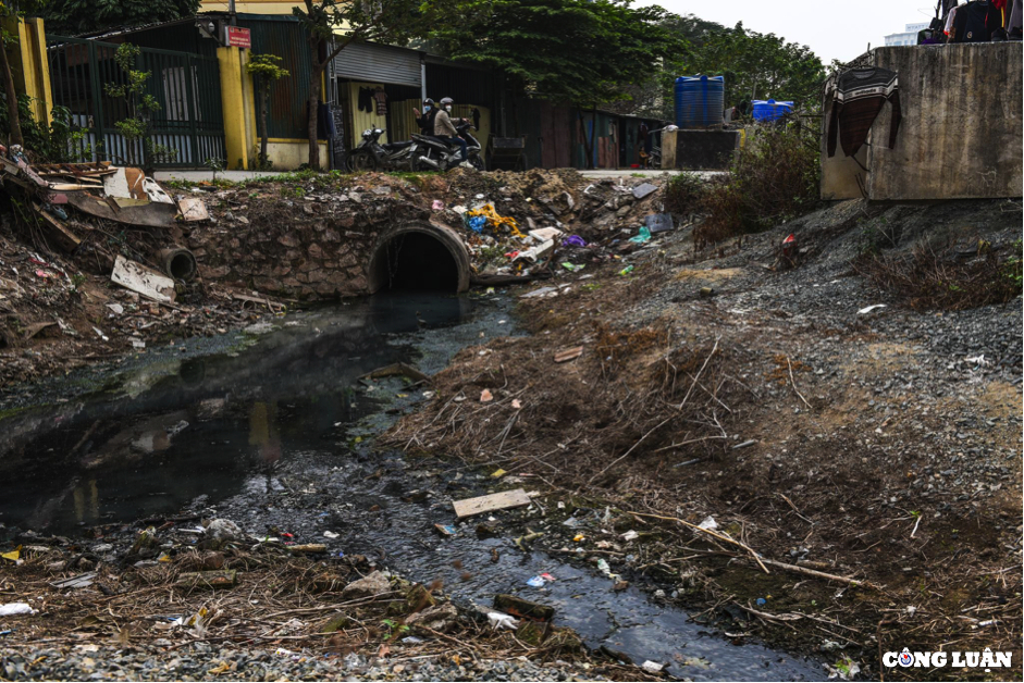
[[431, 40], [449, 57], [504, 73], [520, 95], [581, 108], [628, 98], [626, 84], [651, 80], [686, 51], [665, 10], [628, 0], [455, 0], [431, 9]]

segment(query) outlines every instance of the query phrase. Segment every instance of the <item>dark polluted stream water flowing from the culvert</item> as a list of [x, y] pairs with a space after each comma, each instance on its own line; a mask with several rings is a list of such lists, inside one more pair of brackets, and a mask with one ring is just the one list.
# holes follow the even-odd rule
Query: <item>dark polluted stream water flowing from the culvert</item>
[[[666, 663], [675, 676], [822, 680], [817, 662], [732, 645], [636, 586], [613, 592], [589, 566], [478, 538], [476, 522], [452, 537], [434, 533], [454, 522], [451, 505], [411, 494], [482, 490], [486, 481], [453, 463], [372, 452], [372, 435], [423, 389], [392, 378], [368, 390], [358, 380], [399, 361], [437, 372], [466, 346], [515, 334], [509, 309], [504, 296], [377, 296], [289, 316], [219, 352], [153, 353], [101, 392], [0, 421], [0, 523], [70, 535], [214, 507], [252, 534], [288, 530], [412, 581], [441, 579], [464, 604], [516, 593], [552, 605], [556, 623], [589, 646]], [[526, 585], [545, 572], [557, 581]]]

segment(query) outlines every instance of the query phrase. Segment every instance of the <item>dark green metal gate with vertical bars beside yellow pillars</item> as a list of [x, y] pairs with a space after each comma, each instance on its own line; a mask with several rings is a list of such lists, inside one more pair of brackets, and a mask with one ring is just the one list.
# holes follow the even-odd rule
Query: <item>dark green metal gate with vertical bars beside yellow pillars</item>
[[147, 159], [140, 140], [126, 139], [116, 123], [128, 117], [124, 98], [107, 94], [106, 84], [123, 85], [127, 73], [114, 61], [118, 45], [48, 36], [50, 89], [55, 107], [71, 112], [81, 131], [74, 153], [82, 161], [113, 161], [158, 169], [196, 169], [208, 159], [225, 159], [220, 70], [215, 58], [139, 48], [135, 70], [149, 72], [140, 95], [156, 99], [149, 114], [155, 146], [171, 150]]

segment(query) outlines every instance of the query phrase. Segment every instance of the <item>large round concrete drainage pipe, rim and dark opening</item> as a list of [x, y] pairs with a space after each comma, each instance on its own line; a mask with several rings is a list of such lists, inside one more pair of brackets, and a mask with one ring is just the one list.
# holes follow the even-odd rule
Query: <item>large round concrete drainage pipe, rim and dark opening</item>
[[378, 238], [367, 282], [370, 294], [381, 289], [466, 291], [470, 273], [469, 252], [455, 231], [412, 222]]

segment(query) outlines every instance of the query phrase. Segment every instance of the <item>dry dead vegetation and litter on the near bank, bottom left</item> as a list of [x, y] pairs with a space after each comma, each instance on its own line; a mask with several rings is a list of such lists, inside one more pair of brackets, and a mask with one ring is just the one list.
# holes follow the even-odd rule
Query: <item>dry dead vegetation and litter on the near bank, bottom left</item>
[[[217, 551], [186, 549], [144, 568], [100, 564], [83, 585], [54, 585], [74, 571], [54, 569], [62, 551], [33, 546], [16, 570], [0, 579], [3, 596], [34, 596], [36, 616], [5, 621], [5, 647], [94, 647], [86, 644], [150, 644], [173, 651], [195, 643], [314, 651], [344, 658], [358, 653], [391, 668], [427, 658], [592, 661], [616, 680], [650, 680], [637, 667], [591, 658], [571, 630], [540, 623], [545, 637], [526, 643], [522, 633], [494, 630], [484, 613], [448, 601], [444, 584], [414, 584], [385, 578], [362, 556], [317, 560], [288, 557], [279, 546]], [[81, 568], [79, 568], [81, 569]], [[211, 588], [196, 574], [227, 576]], [[525, 620], [526, 621], [526, 620]], [[522, 629], [520, 628], [520, 631]], [[534, 628], [536, 631], [536, 628]], [[525, 633], [525, 631], [523, 631]], [[409, 638], [409, 636], [416, 636]], [[407, 639], [409, 638], [409, 639]], [[89, 651], [86, 649], [85, 651]], [[212, 661], [215, 669], [218, 662]], [[224, 665], [210, 673], [231, 676]], [[400, 669], [395, 669], [396, 672]]]

